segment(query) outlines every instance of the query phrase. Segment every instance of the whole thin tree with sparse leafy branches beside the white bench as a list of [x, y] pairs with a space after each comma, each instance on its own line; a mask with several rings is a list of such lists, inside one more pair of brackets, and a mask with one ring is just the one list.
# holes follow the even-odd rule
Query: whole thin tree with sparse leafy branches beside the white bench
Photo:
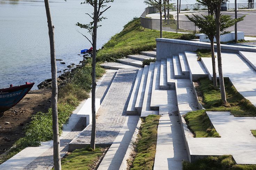
[[101, 26], [98, 25], [106, 17], [102, 17], [103, 12], [108, 10], [111, 6], [107, 7], [106, 3], [114, 2], [114, 0], [85, 0], [81, 4], [91, 5], [94, 9], [92, 15], [86, 13], [90, 16], [92, 22], [89, 24], [80, 24], [76, 25], [80, 28], [87, 29], [88, 33], [91, 35], [91, 39], [86, 35], [82, 34], [93, 47], [92, 53], [92, 133], [91, 133], [91, 148], [95, 150], [95, 139], [96, 139], [96, 108], [95, 108], [95, 91], [96, 91], [96, 48], [97, 48], [97, 29]]

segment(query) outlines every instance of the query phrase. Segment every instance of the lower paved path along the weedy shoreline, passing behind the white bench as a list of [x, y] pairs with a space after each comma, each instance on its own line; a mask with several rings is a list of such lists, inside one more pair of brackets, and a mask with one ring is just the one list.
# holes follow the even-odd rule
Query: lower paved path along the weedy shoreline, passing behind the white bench
[[[99, 87], [97, 87], [96, 97], [100, 98], [101, 101], [106, 96], [106, 91], [109, 89], [111, 82], [113, 81], [113, 77], [116, 72], [108, 72], [102, 77], [99, 83]], [[82, 102], [83, 104], [84, 102]], [[81, 105], [82, 105], [81, 104]], [[81, 105], [79, 107], [81, 107]], [[63, 133], [60, 137], [61, 142], [61, 157], [63, 157], [68, 152], [68, 144], [75, 138], [80, 131], [82, 131], [85, 127], [85, 118], [77, 116], [77, 112], [79, 107], [73, 111], [73, 114], [70, 116], [69, 124], [63, 126]], [[53, 167], [53, 141], [44, 142], [43, 145], [39, 147], [28, 147], [25, 148], [22, 152], [18, 153], [19, 156], [15, 156], [5, 163], [0, 165], [0, 169], [52, 169]], [[48, 149], [47, 149], [48, 148]], [[45, 150], [41, 152], [37, 158], [34, 157], [37, 154], [30, 155], [31, 152], [37, 152], [39, 150]], [[32, 157], [33, 156], [33, 157]], [[13, 159], [13, 160], [12, 160]], [[18, 159], [18, 160], [17, 160]], [[32, 162], [31, 162], [32, 161]], [[29, 163], [30, 162], [30, 163]]]

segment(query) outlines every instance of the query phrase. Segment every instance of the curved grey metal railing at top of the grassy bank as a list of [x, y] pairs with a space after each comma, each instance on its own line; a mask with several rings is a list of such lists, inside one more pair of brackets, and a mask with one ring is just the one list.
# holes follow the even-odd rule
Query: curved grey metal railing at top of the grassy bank
[[[144, 28], [160, 30], [160, 19], [146, 18], [147, 14], [156, 13], [154, 7], [148, 7], [140, 16], [140, 24]], [[196, 26], [191, 21], [162, 20], [162, 30], [172, 32], [195, 33]]]

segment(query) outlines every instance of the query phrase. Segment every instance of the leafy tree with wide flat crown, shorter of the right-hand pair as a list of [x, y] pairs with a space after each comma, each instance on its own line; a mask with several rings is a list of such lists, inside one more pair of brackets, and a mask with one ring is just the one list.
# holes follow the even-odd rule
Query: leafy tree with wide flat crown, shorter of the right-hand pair
[[[210, 10], [211, 11], [211, 10]], [[199, 15], [192, 14], [193, 17], [186, 17], [195, 23], [195, 26], [199, 27], [200, 32], [205, 34], [211, 43], [211, 59], [212, 59], [212, 75], [213, 75], [213, 83], [214, 87], [217, 87], [217, 75], [216, 75], [216, 63], [215, 63], [215, 55], [214, 55], [214, 37], [216, 35], [216, 22], [214, 15]], [[232, 27], [235, 23], [243, 20], [245, 16], [240, 17], [238, 19], [232, 19], [230, 15], [221, 15], [220, 22], [220, 31], [221, 35], [230, 33], [230, 31], [226, 31], [227, 28]]]

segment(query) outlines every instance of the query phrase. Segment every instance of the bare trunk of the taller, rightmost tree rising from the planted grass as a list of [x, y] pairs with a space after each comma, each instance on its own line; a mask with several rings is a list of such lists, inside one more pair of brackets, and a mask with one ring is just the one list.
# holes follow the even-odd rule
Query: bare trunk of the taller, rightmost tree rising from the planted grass
[[225, 104], [227, 104], [227, 100], [226, 100], [224, 78], [223, 78], [223, 73], [222, 73], [222, 58], [221, 58], [221, 49], [220, 49], [220, 5], [221, 5], [221, 3], [218, 2], [217, 11], [215, 11], [215, 16], [216, 16], [216, 43], [217, 43], [219, 86], [220, 86], [221, 100], [222, 100], [223, 104], [225, 105]]

